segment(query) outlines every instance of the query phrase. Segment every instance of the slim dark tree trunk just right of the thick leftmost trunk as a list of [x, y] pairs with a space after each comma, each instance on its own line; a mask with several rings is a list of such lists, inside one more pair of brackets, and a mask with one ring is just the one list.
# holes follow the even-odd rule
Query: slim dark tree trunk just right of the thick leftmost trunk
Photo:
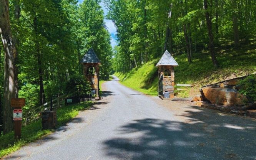
[[[18, 26], [20, 26], [20, 0], [14, 0], [14, 19]], [[15, 42], [16, 46], [16, 58], [15, 58], [15, 64], [18, 64], [18, 53], [19, 53], [19, 46], [20, 46], [20, 39], [19, 39], [19, 33], [17, 29], [16, 35], [13, 37], [13, 40]], [[15, 67], [15, 91], [16, 91], [16, 97], [18, 97], [18, 66]]]

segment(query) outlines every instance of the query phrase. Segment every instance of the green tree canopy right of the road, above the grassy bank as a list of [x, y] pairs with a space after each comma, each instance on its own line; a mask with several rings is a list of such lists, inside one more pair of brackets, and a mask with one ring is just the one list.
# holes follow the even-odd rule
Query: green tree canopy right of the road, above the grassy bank
[[[118, 47], [115, 48], [115, 57], [112, 61], [116, 72], [126, 73], [136, 66], [143, 65], [147, 60], [160, 58], [165, 46], [175, 56], [184, 54], [186, 60], [184, 62], [190, 65], [186, 56], [185, 33], [188, 35], [189, 53], [192, 54], [194, 66], [198, 63], [198, 59], [201, 63], [206, 58], [209, 64], [206, 65], [208, 71], [215, 70], [210, 64], [212, 62], [208, 61], [211, 58], [207, 52], [209, 36], [206, 10], [202, 7], [202, 0], [105, 0], [105, 2], [109, 9], [107, 17], [115, 22], [118, 29]], [[206, 2], [207, 12], [211, 17], [215, 54], [221, 49], [233, 49], [234, 35], [237, 34], [241, 46], [236, 46], [229, 53], [224, 52], [228, 54], [233, 53], [234, 50], [239, 52], [244, 45], [255, 42], [256, 21], [253, 19], [256, 18], [256, 10], [253, 8], [256, 7], [256, 3], [241, 0], [206, 0]], [[234, 18], [238, 19], [237, 26], [234, 24]], [[234, 28], [237, 28], [238, 33], [234, 32]], [[168, 29], [170, 29], [169, 34]], [[194, 54], [201, 54], [201, 58]], [[226, 65], [223, 64], [225, 61], [222, 57], [218, 54], [216, 57], [221, 66]]]

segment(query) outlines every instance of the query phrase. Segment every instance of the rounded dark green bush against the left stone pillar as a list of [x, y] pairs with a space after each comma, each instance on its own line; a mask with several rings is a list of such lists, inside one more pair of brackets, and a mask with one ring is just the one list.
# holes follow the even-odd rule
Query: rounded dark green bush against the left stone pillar
[[66, 93], [74, 93], [75, 96], [85, 96], [91, 93], [91, 85], [83, 76], [72, 75], [66, 82]]

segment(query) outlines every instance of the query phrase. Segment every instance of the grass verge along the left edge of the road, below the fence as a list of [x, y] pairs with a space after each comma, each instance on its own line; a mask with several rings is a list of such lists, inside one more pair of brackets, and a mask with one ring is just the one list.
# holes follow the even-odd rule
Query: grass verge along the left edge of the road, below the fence
[[[74, 104], [64, 106], [57, 111], [57, 127], [65, 124], [73, 117], [78, 115], [78, 112], [90, 107], [92, 102], [84, 102], [82, 104]], [[0, 158], [8, 155], [22, 146], [40, 139], [43, 135], [51, 134], [54, 130], [42, 130], [41, 119], [29, 124], [27, 127], [22, 127], [22, 137], [19, 141], [14, 139], [14, 132], [5, 135], [0, 135]]]

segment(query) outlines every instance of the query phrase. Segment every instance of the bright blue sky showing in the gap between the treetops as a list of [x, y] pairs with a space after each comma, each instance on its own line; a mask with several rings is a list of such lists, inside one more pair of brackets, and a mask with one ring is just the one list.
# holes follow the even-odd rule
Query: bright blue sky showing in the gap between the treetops
[[[79, 3], [83, 2], [83, 0], [78, 0]], [[108, 13], [108, 10], [105, 8], [104, 3], [101, 2], [100, 6], [102, 7], [103, 11], [104, 11], [104, 15], [106, 15]], [[111, 20], [107, 20], [106, 18], [104, 19], [104, 22], [107, 26], [107, 29], [111, 35], [111, 46], [112, 48], [114, 48], [114, 46], [117, 45], [116, 42], [116, 27], [114, 25], [114, 23]]]

